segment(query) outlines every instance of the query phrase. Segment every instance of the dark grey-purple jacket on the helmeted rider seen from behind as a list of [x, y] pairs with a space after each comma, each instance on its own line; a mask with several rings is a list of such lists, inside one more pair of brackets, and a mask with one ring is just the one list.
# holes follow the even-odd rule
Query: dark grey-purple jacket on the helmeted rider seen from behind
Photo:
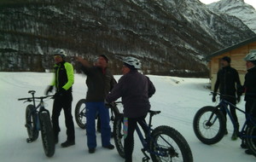
[[126, 73], [107, 96], [108, 102], [122, 97], [124, 115], [128, 118], [145, 116], [150, 109], [148, 98], [154, 95], [154, 84], [137, 70]]

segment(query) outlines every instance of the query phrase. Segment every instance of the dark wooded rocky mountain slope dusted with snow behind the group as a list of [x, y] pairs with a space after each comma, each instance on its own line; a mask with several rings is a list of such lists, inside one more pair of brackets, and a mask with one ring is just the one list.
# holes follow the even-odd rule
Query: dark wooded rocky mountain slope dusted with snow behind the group
[[143, 72], [206, 76], [205, 55], [255, 34], [241, 20], [198, 0], [3, 0], [0, 71], [51, 69], [53, 49], [72, 60], [137, 56]]

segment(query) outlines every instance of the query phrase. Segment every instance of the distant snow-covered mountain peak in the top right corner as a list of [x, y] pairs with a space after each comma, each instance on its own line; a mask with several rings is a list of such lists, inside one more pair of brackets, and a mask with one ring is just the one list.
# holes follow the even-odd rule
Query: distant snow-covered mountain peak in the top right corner
[[253, 6], [244, 3], [243, 0], [221, 0], [207, 6], [209, 9], [213, 9], [214, 12], [236, 16], [253, 32], [256, 32], [256, 10]]

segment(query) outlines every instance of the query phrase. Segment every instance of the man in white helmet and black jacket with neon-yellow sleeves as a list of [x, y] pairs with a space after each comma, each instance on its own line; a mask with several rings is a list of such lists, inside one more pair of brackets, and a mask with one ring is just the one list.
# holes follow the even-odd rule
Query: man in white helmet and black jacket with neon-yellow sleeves
[[52, 110], [52, 125], [55, 143], [59, 141], [59, 117], [63, 108], [65, 114], [65, 124], [67, 127], [67, 141], [61, 143], [62, 148], [67, 148], [75, 144], [74, 125], [72, 116], [72, 85], [74, 82], [73, 65], [65, 61], [66, 52], [63, 49], [55, 49], [55, 76], [52, 84], [46, 90], [46, 95], [52, 92], [55, 86], [55, 100]]

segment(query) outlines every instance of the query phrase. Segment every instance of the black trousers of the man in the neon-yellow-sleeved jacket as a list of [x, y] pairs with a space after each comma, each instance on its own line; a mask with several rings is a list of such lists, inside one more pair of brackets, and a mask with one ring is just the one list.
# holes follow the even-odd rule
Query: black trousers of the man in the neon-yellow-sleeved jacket
[[58, 98], [55, 98], [53, 110], [52, 110], [52, 126], [55, 136], [59, 135], [59, 132], [61, 131], [60, 125], [59, 125], [59, 117], [61, 114], [61, 110], [63, 108], [64, 115], [65, 115], [65, 124], [67, 127], [67, 141], [74, 141], [74, 125], [73, 125], [73, 116], [72, 116], [72, 101], [73, 96], [72, 93], [67, 93], [64, 95], [61, 95]]

